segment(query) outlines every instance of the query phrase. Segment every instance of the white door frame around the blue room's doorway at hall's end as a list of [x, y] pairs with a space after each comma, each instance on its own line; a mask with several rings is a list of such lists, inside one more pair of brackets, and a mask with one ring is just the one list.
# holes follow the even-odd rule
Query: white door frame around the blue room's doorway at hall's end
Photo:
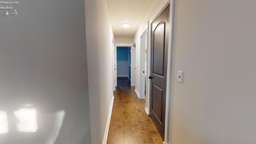
[[[116, 47], [118, 47], [118, 46], [125, 46], [125, 47], [131, 47], [131, 50], [132, 50], [132, 43], [116, 43], [115, 44], [115, 50], [114, 50], [114, 52], [115, 52], [115, 86], [117, 86], [117, 68], [116, 68]], [[131, 63], [132, 63], [132, 56], [133, 56], [133, 54], [132, 54], [132, 51], [131, 51]], [[131, 64], [131, 69], [133, 68], [133, 64]], [[131, 70], [131, 86], [132, 86], [132, 78], [133, 78], [133, 76], [134, 76], [134, 74], [132, 73], [132, 70]]]

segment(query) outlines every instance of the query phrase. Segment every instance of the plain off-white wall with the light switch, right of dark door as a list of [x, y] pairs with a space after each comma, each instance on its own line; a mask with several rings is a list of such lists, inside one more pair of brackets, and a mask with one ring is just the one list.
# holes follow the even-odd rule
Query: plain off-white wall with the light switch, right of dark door
[[256, 143], [255, 7], [175, 1], [170, 144]]

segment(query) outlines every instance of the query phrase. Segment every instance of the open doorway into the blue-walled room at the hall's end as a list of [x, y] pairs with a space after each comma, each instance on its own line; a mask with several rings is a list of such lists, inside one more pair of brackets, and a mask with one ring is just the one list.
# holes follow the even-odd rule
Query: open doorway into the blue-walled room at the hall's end
[[[125, 79], [130, 85], [131, 80], [131, 47], [117, 46], [116, 47], [116, 69], [117, 79]], [[117, 86], [120, 85], [118, 84]]]

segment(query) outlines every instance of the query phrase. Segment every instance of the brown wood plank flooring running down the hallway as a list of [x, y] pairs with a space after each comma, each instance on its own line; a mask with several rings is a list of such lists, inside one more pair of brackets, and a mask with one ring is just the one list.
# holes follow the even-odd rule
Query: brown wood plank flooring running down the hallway
[[118, 78], [107, 144], [163, 144], [144, 108], [128, 78]]

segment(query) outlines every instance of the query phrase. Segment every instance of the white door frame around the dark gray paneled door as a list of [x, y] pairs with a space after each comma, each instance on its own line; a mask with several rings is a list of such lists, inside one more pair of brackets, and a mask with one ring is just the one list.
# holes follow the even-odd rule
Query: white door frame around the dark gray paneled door
[[[170, 94], [171, 94], [171, 68], [172, 68], [172, 39], [173, 39], [173, 18], [174, 18], [174, 0], [162, 0], [162, 2], [160, 2], [160, 4], [158, 5], [158, 7], [156, 8], [156, 10], [154, 11], [154, 13], [152, 14], [152, 16], [150, 17], [149, 20], [149, 26], [148, 29], [151, 30], [151, 23], [154, 22], [154, 20], [156, 20], [156, 18], [158, 18], [158, 16], [164, 11], [164, 9], [168, 6], [168, 4], [170, 4], [170, 29], [169, 29], [169, 40], [168, 40], [168, 60], [167, 60], [167, 80], [166, 80], [166, 108], [165, 108], [165, 128], [164, 128], [164, 144], [167, 144], [167, 142], [169, 141], [169, 124], [170, 124], [170, 116], [172, 116], [172, 111], [170, 108]], [[151, 33], [148, 33], [148, 61], [147, 64], [151, 64]], [[150, 74], [151, 70], [150, 67], [148, 67], [148, 74]], [[149, 81], [149, 82], [148, 82]], [[150, 87], [150, 80], [148, 80], [148, 87]], [[147, 92], [148, 95], [150, 96], [150, 88], [148, 88]], [[148, 97], [147, 95], [147, 97]], [[148, 98], [150, 99], [150, 98]], [[146, 108], [148, 108], [148, 110], [145, 111], [147, 112], [148, 115], [150, 115], [150, 100], [147, 101], [148, 105], [146, 105]]]

